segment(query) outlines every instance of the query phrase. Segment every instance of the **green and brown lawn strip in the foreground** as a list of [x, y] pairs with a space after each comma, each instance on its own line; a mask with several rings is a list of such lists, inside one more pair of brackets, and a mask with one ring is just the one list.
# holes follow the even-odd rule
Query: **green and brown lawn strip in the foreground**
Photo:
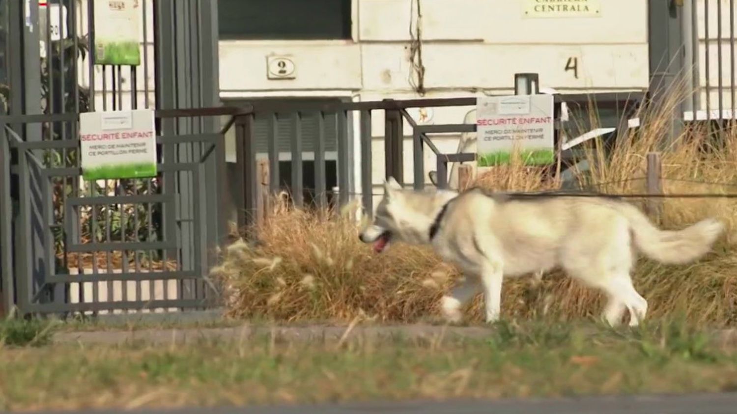
[[[24, 329], [10, 329], [18, 330]], [[268, 336], [192, 345], [45, 345], [43, 326], [29, 331], [42, 332], [41, 340], [24, 335], [0, 348], [0, 410], [680, 393], [737, 386], [735, 349], [679, 325], [612, 331], [586, 323], [504, 323], [485, 339], [356, 338], [340, 346]]]

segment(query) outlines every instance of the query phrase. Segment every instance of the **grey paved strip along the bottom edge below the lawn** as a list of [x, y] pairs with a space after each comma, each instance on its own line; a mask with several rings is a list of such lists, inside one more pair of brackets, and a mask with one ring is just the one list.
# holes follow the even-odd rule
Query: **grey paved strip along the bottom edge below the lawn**
[[[161, 411], [88, 411], [99, 414], [734, 414], [737, 393], [600, 397], [537, 401], [418, 401], [298, 407], [185, 408]], [[42, 413], [50, 414], [50, 413]]]

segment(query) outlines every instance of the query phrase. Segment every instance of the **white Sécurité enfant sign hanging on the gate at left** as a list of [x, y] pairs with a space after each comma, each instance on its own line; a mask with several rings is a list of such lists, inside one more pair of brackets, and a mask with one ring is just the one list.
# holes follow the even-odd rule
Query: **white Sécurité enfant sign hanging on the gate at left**
[[85, 180], [156, 176], [156, 124], [150, 109], [80, 113]]

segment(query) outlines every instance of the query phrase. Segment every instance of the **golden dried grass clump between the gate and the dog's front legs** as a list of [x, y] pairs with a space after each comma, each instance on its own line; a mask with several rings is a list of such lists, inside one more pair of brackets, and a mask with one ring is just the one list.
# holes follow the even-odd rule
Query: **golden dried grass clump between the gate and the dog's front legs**
[[225, 281], [229, 315], [284, 321], [425, 315], [450, 267], [425, 248], [391, 246], [374, 254], [358, 240], [355, 207], [315, 214], [282, 206], [258, 229], [258, 247], [242, 240], [229, 246], [213, 270]]

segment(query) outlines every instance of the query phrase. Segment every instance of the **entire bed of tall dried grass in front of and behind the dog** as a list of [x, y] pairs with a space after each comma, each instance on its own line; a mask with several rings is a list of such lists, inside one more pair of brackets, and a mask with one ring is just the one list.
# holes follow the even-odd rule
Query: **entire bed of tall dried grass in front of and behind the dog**
[[[696, 127], [666, 143], [663, 138], [677, 102], [674, 96], [658, 108], [645, 108], [639, 114], [642, 127], [621, 133], [608, 152], [601, 141], [586, 144], [590, 169], [574, 171], [581, 188], [645, 192], [646, 154], [661, 151], [666, 194], [737, 192], [737, 188], [730, 190], [730, 185], [737, 186], [737, 131], [722, 131], [726, 139], [720, 147], [714, 146], [705, 128]], [[549, 170], [513, 163], [478, 175], [474, 185], [496, 191], [537, 191], [559, 188], [560, 183]], [[649, 301], [649, 317], [678, 315], [713, 326], [737, 323], [737, 255], [732, 244], [737, 205], [733, 199], [666, 199], [661, 225], [678, 228], [708, 216], [719, 217], [728, 228], [713, 253], [686, 266], [641, 259], [635, 267], [635, 287]], [[442, 292], [461, 277], [453, 267], [441, 263], [428, 248], [397, 244], [374, 254], [358, 240], [360, 225], [350, 211], [326, 217], [326, 212], [282, 208], [257, 229], [257, 247], [240, 241], [228, 248], [214, 274], [225, 282], [231, 316], [411, 322], [438, 315]], [[506, 317], [570, 320], [598, 315], [601, 305], [599, 292], [557, 271], [542, 281], [507, 279], [503, 287]], [[470, 306], [468, 317], [481, 320], [481, 298]]]

